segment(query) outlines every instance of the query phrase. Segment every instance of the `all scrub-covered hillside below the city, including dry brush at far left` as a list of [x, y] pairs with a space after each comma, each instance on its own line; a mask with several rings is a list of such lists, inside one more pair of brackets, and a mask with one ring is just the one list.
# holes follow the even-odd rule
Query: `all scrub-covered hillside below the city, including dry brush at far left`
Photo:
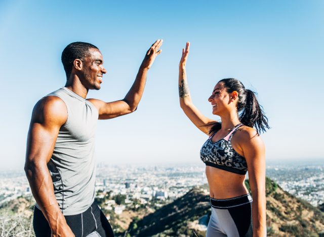
[[[246, 182], [249, 187], [249, 182]], [[323, 204], [315, 208], [266, 179], [268, 236], [323, 236]], [[116, 198], [116, 197], [115, 197]], [[116, 199], [117, 200], [117, 199]], [[97, 200], [105, 210], [105, 199]], [[117, 200], [118, 201], [118, 200]], [[148, 206], [129, 208], [121, 215], [110, 211], [109, 222], [117, 236], [205, 236], [210, 202], [208, 186], [199, 186], [174, 202], [155, 210]], [[0, 207], [0, 236], [34, 236], [34, 200], [19, 197]], [[200, 223], [198, 220], [200, 219]], [[128, 231], [125, 232], [125, 230]]]

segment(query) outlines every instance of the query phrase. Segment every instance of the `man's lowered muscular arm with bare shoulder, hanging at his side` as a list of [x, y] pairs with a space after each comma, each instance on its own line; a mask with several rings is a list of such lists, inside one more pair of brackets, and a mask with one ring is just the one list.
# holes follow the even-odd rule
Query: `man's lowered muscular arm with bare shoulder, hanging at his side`
[[49, 222], [52, 236], [74, 236], [57, 204], [47, 168], [60, 127], [67, 120], [64, 102], [45, 97], [35, 105], [27, 138], [25, 172], [32, 194]]

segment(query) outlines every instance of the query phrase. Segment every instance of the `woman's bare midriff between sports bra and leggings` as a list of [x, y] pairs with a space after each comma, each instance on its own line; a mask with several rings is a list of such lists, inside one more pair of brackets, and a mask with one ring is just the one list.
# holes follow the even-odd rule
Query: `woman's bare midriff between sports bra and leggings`
[[213, 199], [230, 199], [249, 193], [245, 186], [245, 175], [206, 166], [209, 193]]

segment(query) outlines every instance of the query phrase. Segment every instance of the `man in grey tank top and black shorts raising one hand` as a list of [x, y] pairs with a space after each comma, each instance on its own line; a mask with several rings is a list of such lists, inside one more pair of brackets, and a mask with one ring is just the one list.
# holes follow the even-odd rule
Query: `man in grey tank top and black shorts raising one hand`
[[25, 172], [36, 200], [36, 236], [113, 236], [94, 203], [97, 120], [136, 110], [161, 45], [158, 39], [150, 47], [130, 91], [114, 102], [86, 99], [106, 73], [99, 49], [75, 42], [63, 50], [66, 85], [36, 103], [28, 132]]

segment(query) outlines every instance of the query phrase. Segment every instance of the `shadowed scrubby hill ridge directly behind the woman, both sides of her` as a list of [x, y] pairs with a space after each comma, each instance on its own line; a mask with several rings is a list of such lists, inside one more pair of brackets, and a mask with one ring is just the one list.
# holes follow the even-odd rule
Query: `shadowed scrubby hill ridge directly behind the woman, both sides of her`
[[[246, 182], [249, 187], [249, 182]], [[266, 180], [268, 236], [324, 236], [324, 215], [309, 203]], [[208, 223], [210, 202], [208, 190], [195, 187], [129, 227], [129, 236], [205, 236], [198, 224]], [[204, 220], [204, 217], [205, 220]]]

